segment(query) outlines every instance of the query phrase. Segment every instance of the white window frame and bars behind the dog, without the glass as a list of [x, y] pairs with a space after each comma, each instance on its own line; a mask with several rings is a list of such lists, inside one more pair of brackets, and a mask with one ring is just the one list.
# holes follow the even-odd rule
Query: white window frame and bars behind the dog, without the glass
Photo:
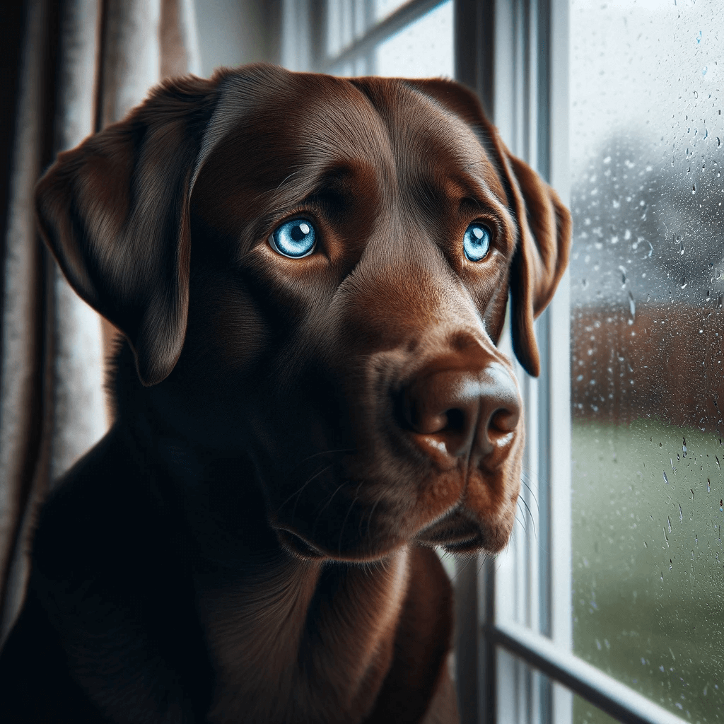
[[[354, 5], [370, 17], [369, 0], [329, 1]], [[327, 0], [283, 0], [282, 64], [290, 70], [340, 72], [443, 1], [410, 0], [329, 56]], [[510, 150], [568, 203], [569, 0], [452, 1], [457, 80], [476, 90]], [[528, 412], [525, 468], [533, 472], [522, 497], [534, 509], [537, 499], [536, 531], [508, 554], [507, 563], [481, 557], [478, 565], [458, 567], [460, 720], [569, 724], [573, 694], [578, 694], [628, 724], [684, 724], [572, 652], [568, 274], [536, 326], [541, 376], [532, 379], [519, 369]], [[509, 610], [525, 623], [504, 618]]]

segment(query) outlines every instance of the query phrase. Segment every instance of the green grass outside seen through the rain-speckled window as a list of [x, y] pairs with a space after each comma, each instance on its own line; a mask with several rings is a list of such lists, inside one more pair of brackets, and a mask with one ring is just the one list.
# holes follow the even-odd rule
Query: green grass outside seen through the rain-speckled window
[[[702, 724], [724, 721], [722, 452], [658, 421], [573, 422], [574, 651]], [[611, 720], [576, 697], [573, 721]]]

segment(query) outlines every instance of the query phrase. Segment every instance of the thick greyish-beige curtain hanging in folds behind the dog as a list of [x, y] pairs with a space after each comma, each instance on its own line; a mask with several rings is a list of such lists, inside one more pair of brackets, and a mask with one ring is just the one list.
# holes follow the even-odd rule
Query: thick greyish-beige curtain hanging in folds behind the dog
[[0, 644], [22, 606], [38, 506], [112, 422], [104, 373], [117, 332], [44, 248], [35, 182], [162, 77], [199, 68], [193, 0], [28, 0], [2, 14]]

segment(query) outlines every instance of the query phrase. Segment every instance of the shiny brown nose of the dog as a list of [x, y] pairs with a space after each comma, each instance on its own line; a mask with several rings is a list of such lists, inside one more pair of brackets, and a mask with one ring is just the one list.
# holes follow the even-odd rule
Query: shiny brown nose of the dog
[[[439, 458], [470, 457], [496, 468], [508, 457], [521, 417], [513, 376], [497, 362], [482, 370], [423, 371], [403, 392], [405, 426]], [[434, 451], [437, 451], [435, 453]]]

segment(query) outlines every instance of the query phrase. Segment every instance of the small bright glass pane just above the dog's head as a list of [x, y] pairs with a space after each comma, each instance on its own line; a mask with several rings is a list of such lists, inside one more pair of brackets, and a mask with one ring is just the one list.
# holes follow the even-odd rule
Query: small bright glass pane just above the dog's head
[[448, 0], [381, 43], [375, 54], [377, 75], [452, 77], [452, 1]]

